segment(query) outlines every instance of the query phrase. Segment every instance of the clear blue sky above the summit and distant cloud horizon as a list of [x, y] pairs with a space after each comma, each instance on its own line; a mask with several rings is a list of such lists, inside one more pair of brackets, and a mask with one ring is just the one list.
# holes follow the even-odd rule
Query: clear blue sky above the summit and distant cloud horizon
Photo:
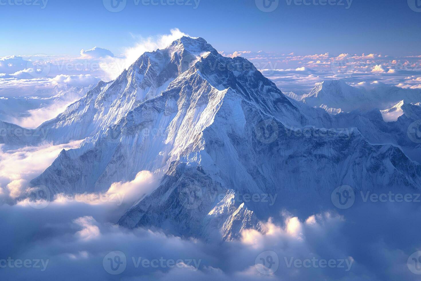
[[44, 9], [41, 0], [27, 0], [40, 5], [11, 5], [16, 1], [0, 0], [0, 56], [79, 54], [93, 46], [121, 54], [140, 36], [168, 34], [172, 28], [227, 52], [420, 53], [421, 13], [407, 0], [353, 0], [348, 9], [346, 0], [342, 6], [279, 0], [272, 12], [259, 10], [255, 0], [201, 0], [197, 9], [193, 0], [173, 6], [127, 0], [117, 13], [102, 0], [48, 0]]

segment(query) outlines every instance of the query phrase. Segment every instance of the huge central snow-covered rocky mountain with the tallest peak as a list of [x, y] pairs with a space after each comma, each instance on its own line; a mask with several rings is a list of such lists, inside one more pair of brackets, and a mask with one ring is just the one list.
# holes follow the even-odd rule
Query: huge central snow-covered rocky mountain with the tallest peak
[[326, 134], [308, 125], [344, 118], [300, 109], [246, 59], [183, 37], [45, 123], [61, 141], [89, 137], [31, 183], [53, 194], [100, 192], [149, 170], [160, 185], [120, 225], [224, 240], [261, 230], [284, 203], [314, 201], [340, 185], [421, 186], [421, 166], [397, 147], [371, 145], [358, 131]]

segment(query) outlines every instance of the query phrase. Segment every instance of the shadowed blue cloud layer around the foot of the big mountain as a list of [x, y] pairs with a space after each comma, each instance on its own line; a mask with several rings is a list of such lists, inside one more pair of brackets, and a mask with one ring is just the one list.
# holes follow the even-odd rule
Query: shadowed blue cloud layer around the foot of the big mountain
[[[49, 261], [45, 271], [4, 268], [3, 278], [418, 280], [406, 265], [420, 246], [418, 229], [413, 227], [421, 222], [415, 204], [366, 204], [343, 214], [326, 210], [302, 218], [282, 211], [281, 223], [264, 223], [265, 234], [244, 230], [239, 241], [222, 244], [156, 230], [122, 229], [110, 223], [115, 217], [105, 215], [109, 208], [80, 202], [53, 202], [38, 210], [25, 204], [0, 206], [4, 231], [0, 246], [5, 257]], [[402, 217], [413, 224], [409, 227]], [[16, 239], [19, 244], [14, 243]], [[113, 251], [126, 257], [125, 269], [115, 276], [107, 273], [106, 257]], [[156, 266], [142, 260], [155, 260]], [[172, 264], [167, 263], [171, 260]], [[335, 266], [323, 266], [323, 260]]]

